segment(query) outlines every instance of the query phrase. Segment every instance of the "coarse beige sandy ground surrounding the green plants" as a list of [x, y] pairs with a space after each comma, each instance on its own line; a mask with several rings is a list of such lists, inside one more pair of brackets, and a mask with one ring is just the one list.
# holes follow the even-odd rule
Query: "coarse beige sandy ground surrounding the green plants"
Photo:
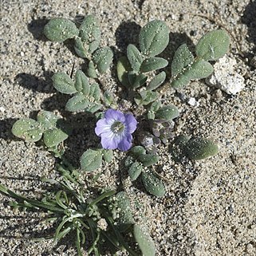
[[[57, 175], [54, 160], [40, 144], [26, 143], [12, 136], [14, 121], [35, 116], [38, 110], [60, 112], [67, 100], [56, 93], [50, 77], [54, 72], [70, 72], [82, 63], [68, 44], [45, 40], [42, 29], [49, 18], [74, 18], [95, 14], [100, 20], [102, 45], [111, 45], [118, 57], [128, 43], [136, 43], [140, 26], [161, 19], [171, 29], [168, 56], [181, 43], [193, 45], [204, 33], [222, 26], [230, 31], [230, 57], [238, 61], [246, 89], [228, 96], [218, 89], [195, 81], [179, 93], [167, 93], [167, 101], [178, 106], [176, 134], [200, 135], [219, 143], [218, 156], [195, 163], [177, 164], [167, 147], [160, 148], [159, 171], [167, 179], [163, 199], [147, 195], [143, 188], [127, 186], [130, 197], [143, 202], [144, 221], [151, 227], [157, 255], [238, 256], [256, 255], [256, 2], [240, 0], [96, 0], [77, 3], [68, 0], [1, 1], [0, 83], [0, 182], [20, 193], [37, 196], [44, 191], [42, 175]], [[114, 2], [114, 3], [113, 3]], [[194, 14], [203, 14], [203, 18]], [[103, 78], [106, 88], [120, 91], [115, 64]], [[198, 107], [186, 103], [191, 96]], [[70, 118], [70, 117], [69, 117]], [[81, 153], [97, 140], [90, 116], [73, 115], [86, 124], [67, 144], [69, 156]], [[103, 167], [100, 179], [115, 186], [120, 152]], [[110, 179], [111, 178], [111, 179]], [[9, 199], [0, 195], [0, 255], [75, 255], [69, 240], [34, 242], [45, 234], [44, 215], [14, 211]], [[120, 253], [124, 255], [124, 253]]]

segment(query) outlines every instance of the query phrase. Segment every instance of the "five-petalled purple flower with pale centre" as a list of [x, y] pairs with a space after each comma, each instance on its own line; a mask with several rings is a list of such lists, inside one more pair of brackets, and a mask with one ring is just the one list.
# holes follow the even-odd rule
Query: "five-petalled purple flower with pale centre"
[[104, 113], [104, 118], [96, 122], [95, 133], [101, 137], [102, 148], [127, 151], [132, 147], [132, 132], [137, 124], [132, 114], [110, 108]]

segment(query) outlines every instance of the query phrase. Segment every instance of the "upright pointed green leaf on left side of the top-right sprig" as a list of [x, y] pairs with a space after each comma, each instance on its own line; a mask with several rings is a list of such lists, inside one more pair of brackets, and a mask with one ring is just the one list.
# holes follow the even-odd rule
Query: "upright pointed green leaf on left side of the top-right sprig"
[[171, 62], [171, 75], [177, 76], [179, 73], [183, 73], [183, 69], [186, 69], [188, 65], [191, 65], [194, 61], [194, 56], [187, 48], [186, 44], [180, 45], [175, 51], [173, 60]]

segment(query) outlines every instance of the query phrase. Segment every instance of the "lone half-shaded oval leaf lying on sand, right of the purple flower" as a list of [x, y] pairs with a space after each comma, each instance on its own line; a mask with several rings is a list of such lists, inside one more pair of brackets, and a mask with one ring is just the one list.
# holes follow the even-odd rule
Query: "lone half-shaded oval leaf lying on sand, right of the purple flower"
[[219, 148], [211, 140], [194, 137], [185, 144], [184, 152], [191, 160], [203, 160], [209, 156], [215, 156]]

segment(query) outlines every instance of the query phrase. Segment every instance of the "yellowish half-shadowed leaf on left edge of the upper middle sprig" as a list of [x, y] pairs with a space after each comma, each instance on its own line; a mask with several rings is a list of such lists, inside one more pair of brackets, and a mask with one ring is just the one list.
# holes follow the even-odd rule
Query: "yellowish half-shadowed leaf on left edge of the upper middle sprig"
[[132, 71], [132, 66], [130, 65], [127, 57], [123, 56], [118, 59], [116, 71], [120, 83], [126, 88], [129, 88], [131, 85], [128, 80], [128, 72]]

